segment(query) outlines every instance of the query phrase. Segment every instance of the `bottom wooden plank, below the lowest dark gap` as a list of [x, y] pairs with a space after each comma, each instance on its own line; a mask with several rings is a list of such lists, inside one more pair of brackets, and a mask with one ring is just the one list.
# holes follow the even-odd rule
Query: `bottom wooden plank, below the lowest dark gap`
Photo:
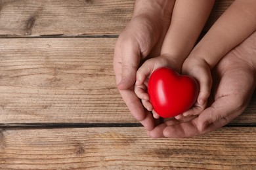
[[3, 129], [1, 169], [256, 169], [256, 128], [150, 139], [143, 127]]

